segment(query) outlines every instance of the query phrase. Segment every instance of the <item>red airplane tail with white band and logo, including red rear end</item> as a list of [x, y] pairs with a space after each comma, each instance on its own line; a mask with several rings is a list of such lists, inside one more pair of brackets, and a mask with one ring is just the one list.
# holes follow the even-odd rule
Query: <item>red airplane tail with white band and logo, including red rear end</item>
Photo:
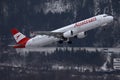
[[11, 33], [17, 42], [17, 45], [14, 45], [14, 48], [24, 48], [29, 38], [20, 33], [16, 28], [12, 29]]

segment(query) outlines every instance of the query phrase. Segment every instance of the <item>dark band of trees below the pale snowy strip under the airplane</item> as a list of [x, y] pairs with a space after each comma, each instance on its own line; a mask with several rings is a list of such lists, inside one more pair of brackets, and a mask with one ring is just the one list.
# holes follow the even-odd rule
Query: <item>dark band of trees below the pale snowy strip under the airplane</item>
[[105, 55], [101, 52], [88, 52], [86, 50], [62, 51], [56, 50], [54, 53], [29, 52], [25, 55], [20, 54], [1, 54], [1, 63], [14, 63], [26, 66], [43, 66], [52, 64], [64, 65], [94, 65], [102, 66], [105, 62]]

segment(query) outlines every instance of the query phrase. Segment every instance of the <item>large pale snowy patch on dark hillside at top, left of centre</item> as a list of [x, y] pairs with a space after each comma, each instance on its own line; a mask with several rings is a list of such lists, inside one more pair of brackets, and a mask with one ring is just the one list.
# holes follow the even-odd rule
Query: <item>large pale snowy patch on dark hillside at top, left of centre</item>
[[62, 13], [66, 11], [70, 11], [72, 9], [71, 3], [64, 1], [51, 1], [45, 2], [43, 5], [36, 5], [34, 7], [35, 12], [41, 12], [41, 10], [47, 14], [51, 13]]

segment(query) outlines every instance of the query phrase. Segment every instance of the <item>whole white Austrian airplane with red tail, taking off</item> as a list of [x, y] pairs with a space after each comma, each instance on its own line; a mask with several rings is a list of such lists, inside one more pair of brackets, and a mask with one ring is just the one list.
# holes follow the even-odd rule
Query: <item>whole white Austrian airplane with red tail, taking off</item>
[[71, 44], [72, 41], [70, 41], [70, 38], [84, 38], [86, 37], [86, 31], [108, 25], [111, 22], [113, 22], [113, 16], [101, 14], [53, 31], [32, 32], [34, 35], [32, 38], [26, 37], [16, 28], [13, 28], [11, 33], [17, 44], [12, 46], [13, 48], [38, 48], [47, 46], [54, 42], [58, 42], [60, 44], [67, 42]]

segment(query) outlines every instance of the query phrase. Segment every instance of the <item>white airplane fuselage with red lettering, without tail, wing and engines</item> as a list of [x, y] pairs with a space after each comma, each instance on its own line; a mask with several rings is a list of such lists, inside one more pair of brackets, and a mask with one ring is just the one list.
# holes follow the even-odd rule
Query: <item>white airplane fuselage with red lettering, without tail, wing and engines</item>
[[[106, 24], [109, 24], [113, 21], [112, 16], [108, 16], [106, 14], [98, 15], [80, 22], [76, 22], [74, 24], [65, 26], [60, 29], [53, 30], [51, 32], [67, 32], [69, 30], [72, 30], [74, 33], [74, 36], [77, 35], [80, 32], [85, 32], [100, 26], [104, 26]], [[37, 35], [26, 43], [26, 48], [33, 48], [33, 47], [41, 47], [48, 44], [51, 44], [53, 42], [59, 41], [59, 38], [55, 38], [54, 36], [47, 36], [47, 35]]]

